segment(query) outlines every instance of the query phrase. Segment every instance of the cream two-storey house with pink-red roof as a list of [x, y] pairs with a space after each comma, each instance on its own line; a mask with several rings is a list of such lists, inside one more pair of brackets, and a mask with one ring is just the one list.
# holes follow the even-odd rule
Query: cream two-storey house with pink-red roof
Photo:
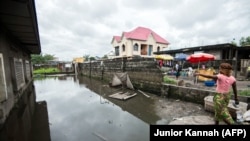
[[121, 36], [113, 36], [111, 44], [115, 57], [154, 57], [153, 52], [163, 51], [169, 42], [149, 28], [137, 27]]

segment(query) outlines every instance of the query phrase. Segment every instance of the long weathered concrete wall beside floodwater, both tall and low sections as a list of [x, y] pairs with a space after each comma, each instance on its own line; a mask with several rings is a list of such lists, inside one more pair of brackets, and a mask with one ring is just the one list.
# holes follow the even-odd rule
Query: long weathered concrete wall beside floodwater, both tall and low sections
[[[78, 73], [111, 82], [114, 73], [128, 72], [130, 80], [136, 89], [158, 96], [165, 96], [198, 104], [204, 104], [204, 98], [206, 96], [215, 94], [215, 91], [164, 83], [164, 75], [154, 59], [104, 60], [104, 65], [101, 66], [101, 64], [101, 61], [79, 64]], [[249, 97], [239, 96], [240, 101], [247, 102], [247, 99], [249, 99]]]

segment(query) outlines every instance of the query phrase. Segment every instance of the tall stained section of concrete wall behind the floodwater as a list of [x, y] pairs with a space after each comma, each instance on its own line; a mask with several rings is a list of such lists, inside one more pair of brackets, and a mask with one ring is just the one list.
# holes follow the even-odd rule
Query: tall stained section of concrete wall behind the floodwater
[[[79, 64], [79, 74], [97, 79], [103, 79], [108, 83], [112, 81], [114, 73], [127, 72], [133, 86], [157, 95], [161, 95], [161, 83], [163, 74], [157, 67], [157, 62], [150, 58], [139, 59], [114, 59], [104, 60], [102, 69], [101, 61]], [[103, 71], [102, 71], [103, 70]]]

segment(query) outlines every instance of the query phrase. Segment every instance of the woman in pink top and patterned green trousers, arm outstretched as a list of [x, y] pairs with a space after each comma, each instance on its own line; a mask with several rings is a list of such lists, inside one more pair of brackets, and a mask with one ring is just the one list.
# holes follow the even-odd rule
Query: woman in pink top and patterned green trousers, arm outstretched
[[215, 124], [218, 125], [220, 121], [224, 121], [226, 124], [234, 124], [232, 116], [227, 108], [231, 99], [230, 88], [233, 88], [235, 104], [239, 104], [237, 96], [236, 79], [232, 74], [232, 66], [229, 63], [221, 63], [219, 68], [219, 74], [217, 75], [206, 75], [196, 73], [197, 76], [203, 76], [211, 78], [216, 81], [216, 93], [213, 97], [214, 112], [215, 112]]

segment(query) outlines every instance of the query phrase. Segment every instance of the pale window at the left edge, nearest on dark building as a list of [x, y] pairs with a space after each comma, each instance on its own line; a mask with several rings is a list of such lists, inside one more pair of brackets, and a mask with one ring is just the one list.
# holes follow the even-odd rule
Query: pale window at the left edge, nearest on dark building
[[7, 87], [4, 72], [3, 55], [0, 53], [0, 102], [6, 100], [7, 97]]

